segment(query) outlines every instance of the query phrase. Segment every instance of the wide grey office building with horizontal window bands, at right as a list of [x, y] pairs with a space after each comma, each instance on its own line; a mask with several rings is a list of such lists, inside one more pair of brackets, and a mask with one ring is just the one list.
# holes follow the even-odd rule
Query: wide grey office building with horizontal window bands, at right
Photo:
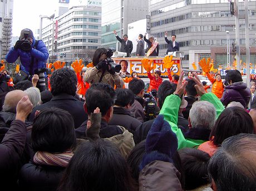
[[[256, 64], [256, 1], [248, 0], [250, 62]], [[230, 34], [230, 49], [235, 42], [235, 17], [230, 15], [227, 0], [150, 0], [150, 32], [160, 43], [160, 54], [164, 56], [167, 43], [164, 35], [176, 34], [180, 51], [185, 52], [183, 67], [203, 57], [211, 57], [217, 64], [227, 66], [227, 31]], [[240, 14], [244, 14], [244, 2], [239, 0]], [[245, 62], [245, 21], [240, 21], [240, 53]], [[232, 51], [230, 51], [232, 52]], [[234, 58], [235, 52], [232, 53]], [[233, 59], [230, 59], [233, 61]], [[231, 63], [232, 64], [232, 63]]]

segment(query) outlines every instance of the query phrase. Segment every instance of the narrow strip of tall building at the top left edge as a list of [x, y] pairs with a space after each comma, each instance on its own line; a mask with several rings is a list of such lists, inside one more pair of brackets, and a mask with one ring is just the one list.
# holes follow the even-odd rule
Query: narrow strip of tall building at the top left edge
[[4, 58], [12, 42], [13, 0], [0, 1], [0, 55]]

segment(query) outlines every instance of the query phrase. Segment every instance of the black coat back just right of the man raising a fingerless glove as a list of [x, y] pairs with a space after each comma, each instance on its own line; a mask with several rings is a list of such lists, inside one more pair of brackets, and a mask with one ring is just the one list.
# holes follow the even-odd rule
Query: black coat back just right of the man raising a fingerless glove
[[108, 123], [109, 125], [120, 125], [132, 134], [135, 133], [137, 127], [141, 125], [141, 122], [132, 117], [132, 113], [129, 109], [122, 107], [114, 107], [113, 116]]

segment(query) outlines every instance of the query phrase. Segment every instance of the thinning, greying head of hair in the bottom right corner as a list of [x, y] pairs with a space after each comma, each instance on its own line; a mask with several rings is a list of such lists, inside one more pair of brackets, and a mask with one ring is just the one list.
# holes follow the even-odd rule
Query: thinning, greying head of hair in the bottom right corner
[[241, 133], [225, 139], [208, 165], [216, 190], [255, 190], [255, 158], [255, 134]]

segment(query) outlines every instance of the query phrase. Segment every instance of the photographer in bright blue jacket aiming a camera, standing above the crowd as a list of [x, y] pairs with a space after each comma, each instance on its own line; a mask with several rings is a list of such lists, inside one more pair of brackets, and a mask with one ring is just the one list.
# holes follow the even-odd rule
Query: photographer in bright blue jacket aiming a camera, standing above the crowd
[[21, 60], [19, 74], [14, 77], [14, 83], [25, 79], [31, 80], [35, 74], [38, 74], [40, 80], [37, 87], [40, 91], [46, 89], [46, 61], [49, 53], [43, 41], [36, 41], [31, 29], [25, 28], [21, 31], [19, 40], [6, 55], [6, 61], [15, 62], [18, 57]]

